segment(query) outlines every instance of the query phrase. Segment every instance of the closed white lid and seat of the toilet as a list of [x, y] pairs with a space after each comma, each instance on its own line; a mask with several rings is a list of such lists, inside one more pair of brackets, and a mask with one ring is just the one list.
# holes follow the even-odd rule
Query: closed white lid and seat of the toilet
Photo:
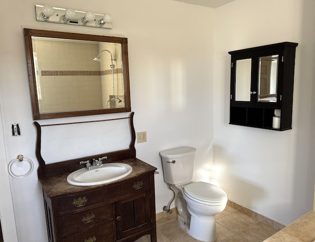
[[218, 186], [198, 181], [183, 187], [184, 194], [191, 200], [212, 206], [226, 203], [226, 193]]

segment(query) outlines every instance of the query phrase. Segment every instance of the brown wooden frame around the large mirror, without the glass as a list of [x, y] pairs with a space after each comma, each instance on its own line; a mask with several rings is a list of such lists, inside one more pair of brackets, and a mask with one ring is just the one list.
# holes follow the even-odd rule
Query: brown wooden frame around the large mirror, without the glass
[[[123, 71], [123, 76], [124, 76], [125, 107], [97, 109], [97, 110], [84, 110], [84, 111], [57, 112], [57, 113], [40, 113], [39, 105], [38, 105], [38, 97], [37, 97], [36, 79], [35, 79], [32, 36], [120, 43], [122, 45], [122, 63], [123, 63], [122, 71]], [[24, 29], [24, 37], [25, 37], [26, 56], [27, 56], [28, 72], [29, 72], [32, 113], [33, 113], [34, 120], [131, 111], [127, 38], [65, 33], [65, 32], [55, 32], [55, 31], [45, 31], [45, 30], [33, 30], [33, 29]]]

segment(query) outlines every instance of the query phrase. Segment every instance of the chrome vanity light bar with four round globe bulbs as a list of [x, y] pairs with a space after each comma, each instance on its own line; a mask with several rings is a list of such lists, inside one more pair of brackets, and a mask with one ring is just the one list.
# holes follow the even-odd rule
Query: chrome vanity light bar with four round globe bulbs
[[36, 20], [42, 22], [79, 25], [102, 29], [112, 29], [113, 17], [106, 13], [79, 11], [73, 8], [60, 8], [49, 5], [35, 5]]

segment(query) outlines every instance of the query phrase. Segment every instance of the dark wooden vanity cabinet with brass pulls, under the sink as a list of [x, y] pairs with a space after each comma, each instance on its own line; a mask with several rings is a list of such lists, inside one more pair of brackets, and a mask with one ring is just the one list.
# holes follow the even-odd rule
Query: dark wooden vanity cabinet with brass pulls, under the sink
[[156, 242], [156, 168], [126, 163], [133, 172], [104, 185], [73, 186], [66, 175], [41, 180], [49, 242], [133, 242], [147, 234]]

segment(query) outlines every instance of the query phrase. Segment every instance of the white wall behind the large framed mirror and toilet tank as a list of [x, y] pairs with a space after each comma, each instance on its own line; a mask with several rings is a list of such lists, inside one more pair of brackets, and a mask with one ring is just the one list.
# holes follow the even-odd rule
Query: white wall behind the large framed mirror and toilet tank
[[[179, 145], [195, 146], [195, 176], [210, 181], [214, 10], [170, 0], [54, 1], [55, 6], [109, 12], [114, 19], [113, 30], [100, 30], [37, 22], [34, 10], [37, 3], [52, 2], [15, 0], [5, 1], [1, 6], [9, 10], [2, 14], [9, 24], [1, 25], [0, 35], [0, 103], [7, 154], [6, 161], [1, 159], [2, 164], [8, 164], [18, 154], [29, 157], [36, 164], [35, 128], [22, 32], [23, 28], [33, 28], [128, 38], [134, 124], [136, 132], [147, 131], [148, 140], [136, 144], [137, 157], [160, 171], [156, 175], [157, 212], [171, 198], [163, 181], [160, 150]], [[71, 121], [115, 116], [119, 115], [78, 117]], [[64, 119], [49, 120], [52, 123], [62, 121]], [[12, 123], [20, 124], [21, 137], [11, 136]], [[47, 241], [36, 169], [37, 164], [32, 174], [23, 179], [9, 178], [19, 242]], [[6, 192], [9, 195], [9, 191]]]

